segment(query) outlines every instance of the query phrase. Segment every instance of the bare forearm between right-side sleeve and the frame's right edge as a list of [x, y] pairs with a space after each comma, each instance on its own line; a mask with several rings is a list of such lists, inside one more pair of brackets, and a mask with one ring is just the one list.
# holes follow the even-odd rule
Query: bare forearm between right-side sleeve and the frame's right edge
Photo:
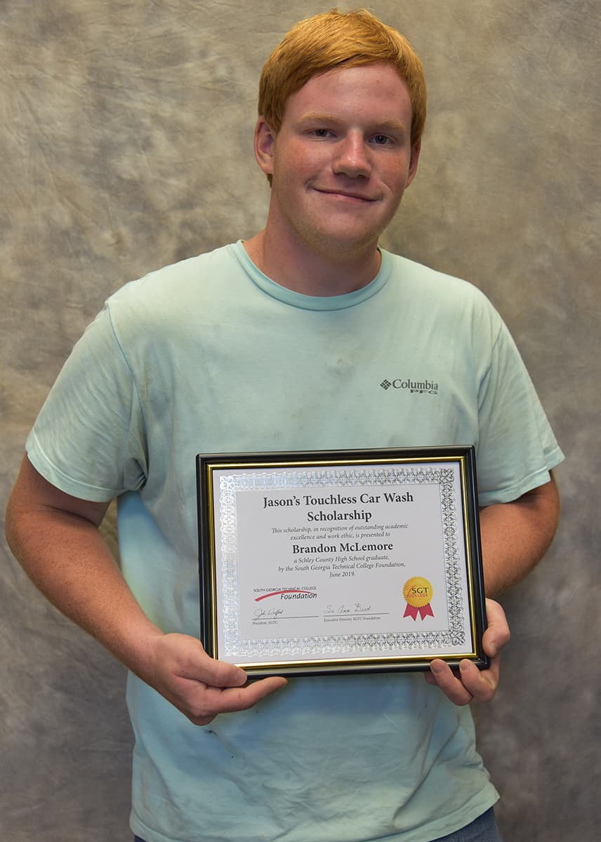
[[512, 503], [480, 511], [486, 596], [494, 598], [535, 567], [553, 540], [559, 512], [553, 479]]

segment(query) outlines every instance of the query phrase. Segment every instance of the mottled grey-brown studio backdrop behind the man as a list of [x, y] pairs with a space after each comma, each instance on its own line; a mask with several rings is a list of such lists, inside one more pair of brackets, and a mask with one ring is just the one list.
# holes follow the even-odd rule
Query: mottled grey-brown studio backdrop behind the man
[[[293, 22], [327, 8], [0, 0], [3, 498], [105, 297], [262, 226], [268, 189], [251, 146], [260, 67]], [[507, 842], [593, 842], [601, 10], [594, 0], [370, 8], [412, 40], [430, 91], [420, 172], [384, 244], [486, 291], [567, 456], [555, 545], [504, 599], [513, 638], [502, 689], [475, 711], [480, 749]], [[0, 838], [126, 842], [123, 670], [1, 552]]]

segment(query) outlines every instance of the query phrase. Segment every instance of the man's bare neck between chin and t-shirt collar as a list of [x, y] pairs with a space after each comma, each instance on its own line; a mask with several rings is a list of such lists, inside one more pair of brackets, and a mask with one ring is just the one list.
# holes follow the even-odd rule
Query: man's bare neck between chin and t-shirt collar
[[289, 248], [271, 237], [268, 228], [244, 242], [244, 248], [263, 274], [304, 296], [342, 296], [360, 290], [378, 274], [382, 260], [375, 243], [365, 253], [330, 257]]

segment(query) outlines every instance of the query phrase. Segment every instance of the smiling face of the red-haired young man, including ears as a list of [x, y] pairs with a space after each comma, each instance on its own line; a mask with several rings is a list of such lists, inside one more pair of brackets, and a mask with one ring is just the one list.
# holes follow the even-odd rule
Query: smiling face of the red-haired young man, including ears
[[272, 177], [266, 231], [292, 257], [375, 257], [417, 168], [407, 86], [387, 64], [314, 76], [277, 134], [260, 118], [255, 154]]

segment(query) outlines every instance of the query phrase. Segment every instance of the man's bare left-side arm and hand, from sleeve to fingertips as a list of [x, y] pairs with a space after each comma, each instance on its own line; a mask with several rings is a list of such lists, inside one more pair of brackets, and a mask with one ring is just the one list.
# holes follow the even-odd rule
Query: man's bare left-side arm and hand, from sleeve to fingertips
[[8, 505], [7, 536], [42, 593], [196, 725], [244, 711], [286, 685], [276, 677], [249, 684], [239, 667], [209, 658], [196, 637], [161, 632], [99, 533], [107, 506], [60, 491], [24, 458]]

